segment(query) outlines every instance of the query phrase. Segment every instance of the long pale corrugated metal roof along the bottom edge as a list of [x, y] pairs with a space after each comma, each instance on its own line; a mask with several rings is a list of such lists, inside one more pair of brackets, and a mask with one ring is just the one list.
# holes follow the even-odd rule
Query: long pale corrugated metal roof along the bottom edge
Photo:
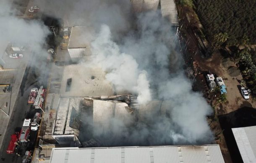
[[219, 145], [52, 148], [50, 163], [224, 163]]

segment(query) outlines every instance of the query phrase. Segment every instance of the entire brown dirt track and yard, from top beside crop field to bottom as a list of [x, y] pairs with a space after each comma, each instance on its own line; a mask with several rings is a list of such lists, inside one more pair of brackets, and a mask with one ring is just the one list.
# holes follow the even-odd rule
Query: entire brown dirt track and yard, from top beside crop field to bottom
[[[253, 101], [252, 98], [249, 100], [243, 99], [243, 96], [240, 93], [240, 83], [238, 80], [242, 79], [240, 72], [230, 74], [228, 69], [230, 67], [237, 67], [234, 62], [229, 61], [223, 63], [225, 56], [217, 50], [210, 59], [204, 58], [204, 49], [206, 40], [199, 41], [199, 36], [196, 35], [196, 30], [201, 28], [201, 24], [196, 16], [196, 13], [193, 9], [178, 6], [178, 15], [181, 20], [181, 29], [180, 29], [180, 38], [185, 38], [188, 40], [188, 54], [186, 55], [185, 61], [191, 63], [195, 61], [198, 64], [198, 70], [210, 71], [211, 73], [216, 74], [223, 78], [224, 83], [227, 87], [227, 102], [219, 104], [215, 107], [216, 116], [208, 117], [209, 126], [212, 131], [215, 133], [215, 142], [219, 144], [222, 151], [223, 158], [226, 163], [232, 163], [229, 150], [223, 135], [222, 128], [220, 127], [219, 120], [217, 116], [230, 113], [232, 111], [238, 110], [244, 106], [256, 108], [256, 101]], [[185, 40], [185, 41], [186, 41]], [[203, 45], [203, 46], [202, 46]], [[236, 68], [234, 68], [236, 69]], [[232, 76], [231, 76], [232, 75]], [[197, 75], [198, 85], [204, 85], [202, 88], [202, 93], [208, 102], [210, 103], [209, 95], [207, 94], [207, 84], [205, 82], [204, 76]], [[212, 105], [216, 103], [216, 99], [212, 99]]]

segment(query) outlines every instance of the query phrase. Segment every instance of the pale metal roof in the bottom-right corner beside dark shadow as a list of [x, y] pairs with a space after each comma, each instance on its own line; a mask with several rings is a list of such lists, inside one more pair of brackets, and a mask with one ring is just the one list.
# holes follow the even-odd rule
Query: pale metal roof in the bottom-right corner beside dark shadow
[[244, 163], [256, 163], [256, 126], [232, 128]]

